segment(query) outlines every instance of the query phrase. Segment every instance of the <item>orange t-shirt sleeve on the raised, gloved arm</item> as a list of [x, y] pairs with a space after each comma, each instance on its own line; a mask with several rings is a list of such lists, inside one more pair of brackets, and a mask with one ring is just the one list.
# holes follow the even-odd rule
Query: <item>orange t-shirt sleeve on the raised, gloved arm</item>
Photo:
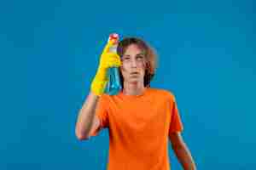
[[108, 127], [108, 105], [107, 99], [104, 94], [99, 98], [98, 103], [96, 105], [96, 117], [100, 121], [100, 126], [90, 133], [90, 136], [96, 136], [100, 130], [104, 127]]

